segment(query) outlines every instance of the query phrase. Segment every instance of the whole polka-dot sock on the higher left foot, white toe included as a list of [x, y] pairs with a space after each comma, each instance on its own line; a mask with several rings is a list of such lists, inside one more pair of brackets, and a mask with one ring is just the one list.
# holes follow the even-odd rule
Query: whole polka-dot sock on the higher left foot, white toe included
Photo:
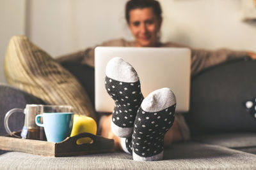
[[111, 129], [116, 136], [129, 138], [143, 100], [138, 74], [129, 63], [115, 57], [109, 60], [106, 67], [105, 87], [115, 101]]

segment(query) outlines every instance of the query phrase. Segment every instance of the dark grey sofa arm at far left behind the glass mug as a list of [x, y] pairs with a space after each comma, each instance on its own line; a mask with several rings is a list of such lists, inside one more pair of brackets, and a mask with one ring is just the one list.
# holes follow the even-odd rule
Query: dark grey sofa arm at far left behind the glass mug
[[[10, 85], [0, 84], [0, 135], [4, 136], [7, 132], [4, 129], [4, 116], [7, 111], [13, 108], [25, 108], [26, 104], [46, 104], [41, 99], [16, 89]], [[24, 125], [24, 114], [13, 113], [9, 118], [9, 126], [12, 131], [19, 131]], [[4, 151], [0, 150], [0, 154]]]

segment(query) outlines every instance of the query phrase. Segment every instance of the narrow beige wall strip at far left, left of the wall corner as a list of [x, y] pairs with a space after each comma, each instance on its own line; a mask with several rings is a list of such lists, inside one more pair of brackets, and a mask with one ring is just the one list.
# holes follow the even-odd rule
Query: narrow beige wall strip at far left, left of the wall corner
[[25, 34], [26, 0], [0, 0], [0, 82], [6, 83], [3, 64], [8, 41], [13, 35]]

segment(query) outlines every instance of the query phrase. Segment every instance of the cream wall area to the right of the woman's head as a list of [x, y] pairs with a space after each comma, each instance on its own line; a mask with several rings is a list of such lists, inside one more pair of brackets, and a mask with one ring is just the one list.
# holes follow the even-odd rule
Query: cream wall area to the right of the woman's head
[[195, 48], [256, 51], [256, 22], [241, 21], [241, 0], [160, 1], [164, 11], [163, 41]]

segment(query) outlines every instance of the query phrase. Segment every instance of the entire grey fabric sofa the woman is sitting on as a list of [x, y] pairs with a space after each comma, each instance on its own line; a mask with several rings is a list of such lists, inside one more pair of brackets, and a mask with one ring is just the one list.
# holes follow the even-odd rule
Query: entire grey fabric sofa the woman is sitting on
[[[60, 63], [70, 71], [94, 101], [94, 70], [75, 62]], [[244, 102], [256, 97], [256, 61], [234, 60], [211, 67], [191, 78], [189, 113], [183, 114], [191, 139], [164, 148], [164, 159], [138, 162], [124, 152], [74, 157], [44, 157], [1, 151], [0, 169], [256, 169], [256, 118]], [[28, 103], [47, 104], [24, 90], [0, 85], [0, 134], [6, 135], [6, 111]], [[24, 117], [10, 120], [14, 130]]]

